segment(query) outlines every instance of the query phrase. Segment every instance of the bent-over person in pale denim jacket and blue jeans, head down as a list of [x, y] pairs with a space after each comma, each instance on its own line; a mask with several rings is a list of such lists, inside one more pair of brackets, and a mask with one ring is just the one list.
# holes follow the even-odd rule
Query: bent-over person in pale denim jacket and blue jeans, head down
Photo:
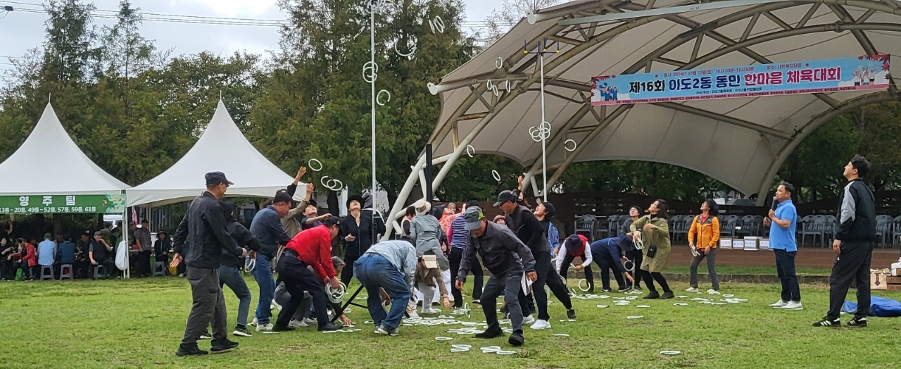
[[[397, 336], [400, 319], [410, 295], [416, 273], [416, 249], [413, 240], [382, 241], [369, 247], [356, 263], [353, 274], [366, 287], [366, 306], [377, 335]], [[387, 293], [391, 309], [385, 312], [381, 291]]]

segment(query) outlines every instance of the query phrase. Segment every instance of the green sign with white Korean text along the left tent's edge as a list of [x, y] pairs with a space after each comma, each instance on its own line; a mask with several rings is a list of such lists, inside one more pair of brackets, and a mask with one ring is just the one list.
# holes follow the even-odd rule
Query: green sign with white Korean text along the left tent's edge
[[22, 195], [0, 196], [0, 214], [122, 214], [125, 196]]

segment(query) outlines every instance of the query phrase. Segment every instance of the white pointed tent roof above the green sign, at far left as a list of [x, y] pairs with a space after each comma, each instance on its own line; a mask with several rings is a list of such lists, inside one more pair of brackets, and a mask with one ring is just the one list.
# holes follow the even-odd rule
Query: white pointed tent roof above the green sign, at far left
[[[42, 180], [48, 176], [71, 180]], [[49, 103], [32, 134], [0, 164], [0, 178], [7, 179], [0, 181], [0, 196], [96, 195], [129, 188], [78, 149]]]

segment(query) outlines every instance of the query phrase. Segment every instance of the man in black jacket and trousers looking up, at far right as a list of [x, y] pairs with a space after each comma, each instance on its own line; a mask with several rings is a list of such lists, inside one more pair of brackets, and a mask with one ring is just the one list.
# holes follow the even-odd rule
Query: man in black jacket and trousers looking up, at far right
[[849, 327], [867, 327], [869, 315], [869, 262], [876, 245], [876, 200], [863, 182], [869, 172], [869, 161], [860, 155], [845, 165], [848, 179], [839, 197], [839, 229], [835, 233], [833, 273], [829, 276], [829, 312], [814, 327], [840, 327], [842, 303], [851, 280], [857, 281], [857, 311], [848, 321]]

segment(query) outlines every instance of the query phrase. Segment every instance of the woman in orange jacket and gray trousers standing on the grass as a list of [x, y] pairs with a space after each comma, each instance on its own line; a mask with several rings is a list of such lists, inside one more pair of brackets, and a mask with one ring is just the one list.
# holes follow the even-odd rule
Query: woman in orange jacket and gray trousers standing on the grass
[[691, 258], [691, 287], [687, 292], [697, 292], [697, 265], [707, 259], [707, 272], [710, 273], [710, 282], [713, 284], [707, 292], [720, 291], [720, 280], [716, 276], [716, 246], [720, 241], [720, 221], [716, 215], [720, 213], [719, 206], [713, 199], [707, 198], [701, 203], [701, 215], [696, 216], [688, 229], [688, 247], [692, 248]]

